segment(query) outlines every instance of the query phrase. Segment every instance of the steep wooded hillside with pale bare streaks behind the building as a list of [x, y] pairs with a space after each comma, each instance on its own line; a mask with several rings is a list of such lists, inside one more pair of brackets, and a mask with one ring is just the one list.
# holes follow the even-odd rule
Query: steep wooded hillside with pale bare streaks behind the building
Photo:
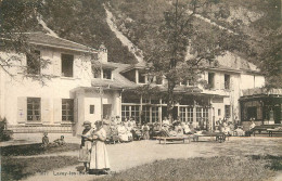
[[[180, 0], [188, 3], [189, 0]], [[256, 63], [268, 76], [279, 74], [280, 63], [268, 57], [265, 50], [272, 49], [272, 41], [277, 41], [277, 30], [281, 27], [280, 0], [214, 0], [216, 4], [201, 8], [193, 24], [196, 31], [222, 36], [226, 43], [238, 55]], [[159, 27], [164, 24], [164, 13], [172, 8], [171, 0], [37, 0], [37, 1], [1, 1], [2, 30], [7, 31], [37, 31], [44, 28], [33, 16], [34, 12], [41, 15], [46, 25], [60, 37], [73, 40], [95, 49], [104, 43], [108, 49], [111, 62], [137, 63], [144, 53], [148, 57], [152, 47], [163, 43], [158, 38]], [[111, 20], [118, 34], [128, 43], [120, 41], [120, 37], [108, 26], [106, 9], [113, 14]], [[190, 11], [190, 10], [188, 10]], [[7, 29], [5, 29], [7, 28]], [[221, 31], [221, 33], [220, 33]], [[240, 38], [238, 36], [240, 35]], [[203, 40], [195, 43], [205, 43]], [[279, 41], [280, 43], [280, 41]], [[278, 44], [279, 44], [278, 43]], [[279, 44], [280, 46], [280, 44]], [[275, 46], [279, 49], [279, 46]], [[134, 51], [132, 51], [134, 50]], [[270, 61], [273, 62], [268, 62]], [[269, 66], [278, 67], [266, 68]], [[267, 67], [269, 67], [267, 66]], [[271, 74], [270, 74], [271, 73]], [[280, 77], [278, 76], [278, 77]]]

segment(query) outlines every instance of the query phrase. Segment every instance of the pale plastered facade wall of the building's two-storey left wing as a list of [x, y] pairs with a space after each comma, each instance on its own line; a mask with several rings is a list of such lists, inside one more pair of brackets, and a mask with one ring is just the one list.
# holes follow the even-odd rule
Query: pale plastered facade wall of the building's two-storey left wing
[[[31, 78], [24, 78], [22, 73], [26, 65], [25, 55], [21, 55], [21, 62], [15, 61], [15, 66], [9, 69], [15, 77], [11, 78], [1, 70], [0, 113], [1, 117], [5, 117], [10, 125], [27, 122], [27, 98], [41, 98], [42, 124], [62, 122], [62, 113], [60, 114], [62, 99], [75, 99], [73, 91], [77, 87], [91, 87], [90, 57], [62, 50], [43, 48], [39, 50], [41, 59], [50, 61], [50, 64], [41, 69], [41, 74], [55, 76], [54, 78], [43, 79], [43, 83]], [[61, 76], [61, 53], [74, 54], [73, 77]]]

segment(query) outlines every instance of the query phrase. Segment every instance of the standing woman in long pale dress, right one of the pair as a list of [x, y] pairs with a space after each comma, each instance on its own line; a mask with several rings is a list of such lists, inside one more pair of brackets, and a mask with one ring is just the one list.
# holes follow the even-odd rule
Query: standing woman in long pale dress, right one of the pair
[[91, 158], [90, 158], [90, 170], [93, 173], [107, 173], [106, 171], [110, 170], [110, 161], [107, 157], [107, 151], [105, 146], [106, 140], [106, 131], [103, 128], [103, 121], [98, 120], [95, 121], [97, 130], [93, 132], [91, 140], [93, 142], [91, 148]]

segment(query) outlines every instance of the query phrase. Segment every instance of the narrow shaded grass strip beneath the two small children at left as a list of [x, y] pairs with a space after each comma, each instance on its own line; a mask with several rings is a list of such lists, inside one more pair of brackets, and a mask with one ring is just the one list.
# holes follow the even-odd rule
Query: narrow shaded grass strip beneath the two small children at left
[[79, 150], [79, 144], [66, 143], [64, 146], [43, 148], [41, 144], [11, 145], [1, 147], [2, 156], [30, 156], [40, 154], [51, 154], [59, 152], [69, 152]]

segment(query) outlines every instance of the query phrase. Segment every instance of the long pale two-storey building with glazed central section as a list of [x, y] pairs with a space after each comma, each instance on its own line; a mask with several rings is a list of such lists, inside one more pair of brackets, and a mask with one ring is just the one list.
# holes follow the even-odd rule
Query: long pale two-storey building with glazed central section
[[[52, 37], [42, 33], [26, 34], [35, 53], [49, 64], [28, 72], [30, 60], [17, 56], [9, 72], [0, 68], [0, 116], [15, 132], [81, 132], [85, 120], [101, 117], [134, 117], [138, 121], [156, 122], [167, 116], [166, 100], [138, 92], [144, 85], [165, 91], [165, 77], [145, 74], [145, 64], [107, 62], [107, 50], [99, 50]], [[26, 73], [28, 76], [26, 76]], [[33, 76], [49, 76], [41, 81]], [[174, 117], [195, 125], [201, 118], [214, 125], [219, 118], [239, 120], [239, 99], [245, 89], [260, 88], [265, 78], [255, 65], [231, 53], [218, 57], [218, 66], [203, 74], [207, 86], [180, 83], [176, 94], [182, 99], [175, 105]]]

